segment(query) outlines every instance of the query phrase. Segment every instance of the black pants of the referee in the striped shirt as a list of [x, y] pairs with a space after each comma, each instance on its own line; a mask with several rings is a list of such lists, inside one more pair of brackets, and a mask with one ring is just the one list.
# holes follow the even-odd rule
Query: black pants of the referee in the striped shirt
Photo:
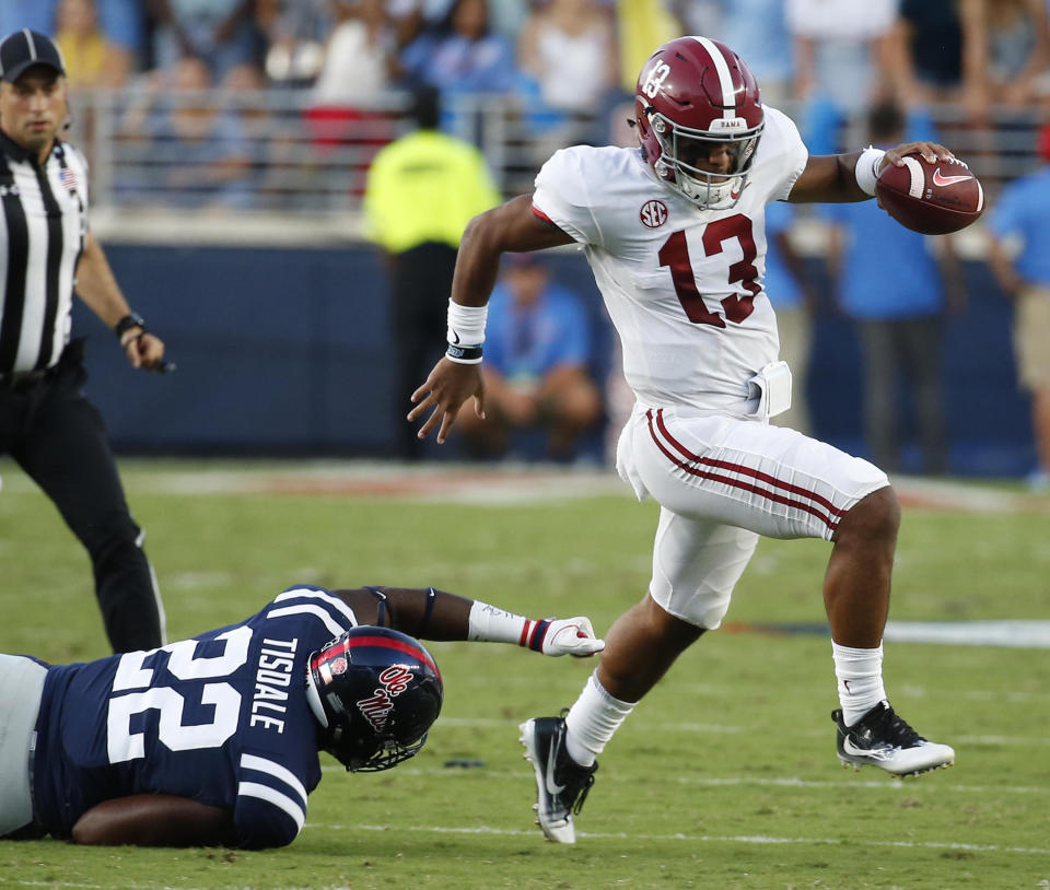
[[33, 478], [88, 549], [114, 652], [154, 648], [164, 643], [160, 594], [102, 415], [81, 391], [81, 353], [71, 343], [42, 380], [0, 380], [0, 453]]

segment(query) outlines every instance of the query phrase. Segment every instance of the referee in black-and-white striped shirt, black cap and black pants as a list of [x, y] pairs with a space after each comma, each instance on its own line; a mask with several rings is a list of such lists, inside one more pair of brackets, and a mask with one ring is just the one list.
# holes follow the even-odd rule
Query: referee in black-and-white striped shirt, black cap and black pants
[[55, 502], [88, 548], [115, 652], [164, 643], [143, 532], [125, 502], [102, 417], [81, 391], [74, 290], [116, 332], [132, 367], [161, 368], [164, 343], [128, 307], [88, 231], [88, 164], [58, 138], [62, 57], [25, 28], [0, 43], [0, 454]]

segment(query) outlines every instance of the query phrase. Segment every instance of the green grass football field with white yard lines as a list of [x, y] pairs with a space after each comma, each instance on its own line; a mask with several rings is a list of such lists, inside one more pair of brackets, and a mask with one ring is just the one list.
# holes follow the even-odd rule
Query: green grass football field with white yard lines
[[[433, 584], [534, 617], [586, 613], [600, 633], [649, 579], [656, 510], [611, 472], [501, 488], [438, 470], [402, 485], [388, 467], [347, 477], [331, 464], [122, 468], [171, 639], [237, 621], [296, 582]], [[13, 465], [0, 461], [0, 651], [108, 654], [86, 555]], [[906, 508], [891, 618], [1050, 619], [1050, 499], [960, 488], [948, 502], [980, 510]], [[727, 624], [821, 622], [828, 547], [762, 541]], [[427, 748], [373, 775], [326, 759], [290, 847], [0, 842], [0, 887], [1050, 887], [1046, 649], [888, 643], [894, 704], [958, 752], [953, 769], [900, 782], [839, 766], [827, 637], [709, 634], [609, 746], [567, 847], [533, 824], [517, 724], [570, 704], [594, 663], [494, 644], [431, 648], [445, 706]]]

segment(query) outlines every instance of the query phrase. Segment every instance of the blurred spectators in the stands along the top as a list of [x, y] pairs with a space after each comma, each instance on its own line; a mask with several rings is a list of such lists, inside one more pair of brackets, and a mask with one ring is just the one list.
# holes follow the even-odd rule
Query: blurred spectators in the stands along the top
[[[457, 118], [457, 101], [492, 99], [513, 109], [521, 138], [538, 143], [518, 162], [526, 174], [559, 144], [631, 140], [623, 103], [637, 72], [653, 47], [681, 33], [738, 51], [766, 101], [794, 114], [814, 153], [860, 144], [867, 108], [889, 98], [908, 112], [913, 133], [938, 134], [960, 154], [991, 153], [980, 134], [1005, 126], [1024, 156], [1031, 132], [1011, 121], [1041, 118], [1050, 96], [1048, 4], [3, 0], [0, 31], [55, 35], [74, 101], [97, 92], [91, 87], [122, 87], [126, 98], [105, 136], [125, 140], [121, 160], [130, 163], [121, 165], [128, 176], [118, 184], [125, 199], [148, 195], [165, 164], [191, 159], [192, 168], [161, 184], [165, 201], [182, 195], [192, 203], [203, 195], [243, 208], [259, 206], [260, 190], [305, 175], [304, 138], [315, 162], [350, 145], [359, 152], [350, 166], [366, 166], [397, 134], [396, 113], [405, 105], [392, 103], [390, 91], [419, 84], [438, 87], [453, 109], [445, 128], [478, 143], [482, 125]], [[201, 98], [199, 91], [209, 90], [219, 97]], [[294, 115], [275, 113], [290, 103]], [[1003, 178], [1025, 172], [1003, 171]], [[495, 174], [505, 194], [530, 183], [529, 175], [508, 184], [502, 169]], [[343, 185], [360, 194], [360, 177]]]

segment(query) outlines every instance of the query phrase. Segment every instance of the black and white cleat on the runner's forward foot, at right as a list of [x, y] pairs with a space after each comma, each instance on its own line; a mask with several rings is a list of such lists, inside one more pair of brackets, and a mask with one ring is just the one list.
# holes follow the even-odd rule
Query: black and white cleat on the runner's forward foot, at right
[[843, 766], [878, 766], [890, 775], [919, 775], [950, 766], [955, 751], [928, 741], [897, 716], [889, 702], [879, 702], [852, 726], [842, 723], [842, 712], [831, 712], [838, 727], [836, 750]]

